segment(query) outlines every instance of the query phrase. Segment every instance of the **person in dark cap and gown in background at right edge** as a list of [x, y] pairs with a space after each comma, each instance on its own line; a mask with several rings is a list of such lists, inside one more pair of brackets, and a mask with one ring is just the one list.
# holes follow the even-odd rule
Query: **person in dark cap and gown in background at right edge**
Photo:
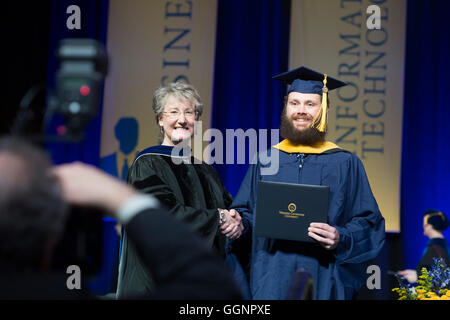
[[438, 210], [429, 209], [423, 217], [423, 234], [429, 238], [427, 246], [415, 270], [406, 269], [398, 271], [409, 283], [417, 282], [417, 275], [421, 274], [423, 267], [431, 269], [434, 264], [433, 258], [443, 258], [447, 266], [450, 266], [450, 249], [447, 239], [442, 231], [448, 228], [447, 216]]

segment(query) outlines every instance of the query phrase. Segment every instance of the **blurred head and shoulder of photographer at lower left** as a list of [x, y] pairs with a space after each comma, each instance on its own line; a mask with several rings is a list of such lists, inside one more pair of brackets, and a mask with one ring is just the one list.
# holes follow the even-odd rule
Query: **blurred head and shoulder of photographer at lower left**
[[[68, 205], [45, 152], [17, 138], [0, 139], [0, 296], [81, 298], [50, 270]], [[86, 286], [82, 285], [82, 288]], [[51, 289], [50, 289], [51, 288]]]

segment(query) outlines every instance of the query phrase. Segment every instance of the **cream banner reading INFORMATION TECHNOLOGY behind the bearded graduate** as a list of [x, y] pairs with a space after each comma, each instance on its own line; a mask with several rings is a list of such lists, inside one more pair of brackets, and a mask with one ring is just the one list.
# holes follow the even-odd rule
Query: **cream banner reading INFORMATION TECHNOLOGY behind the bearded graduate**
[[400, 231], [405, 29], [404, 0], [292, 0], [290, 68], [304, 65], [349, 83], [330, 93], [327, 139], [363, 161], [386, 230], [394, 232]]

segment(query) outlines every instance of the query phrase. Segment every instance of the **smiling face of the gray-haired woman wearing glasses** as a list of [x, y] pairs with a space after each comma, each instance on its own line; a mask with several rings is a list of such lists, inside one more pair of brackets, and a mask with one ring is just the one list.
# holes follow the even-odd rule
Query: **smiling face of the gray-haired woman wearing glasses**
[[164, 129], [162, 144], [174, 146], [189, 140], [194, 134], [195, 120], [194, 103], [169, 96], [158, 121]]

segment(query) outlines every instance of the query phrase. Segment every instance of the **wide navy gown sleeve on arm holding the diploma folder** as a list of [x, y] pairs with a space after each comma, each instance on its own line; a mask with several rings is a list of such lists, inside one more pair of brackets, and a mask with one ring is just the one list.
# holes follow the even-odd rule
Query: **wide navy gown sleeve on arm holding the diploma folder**
[[335, 253], [340, 263], [362, 263], [374, 259], [384, 245], [385, 223], [372, 194], [364, 166], [352, 157], [348, 172], [345, 220], [339, 231]]

